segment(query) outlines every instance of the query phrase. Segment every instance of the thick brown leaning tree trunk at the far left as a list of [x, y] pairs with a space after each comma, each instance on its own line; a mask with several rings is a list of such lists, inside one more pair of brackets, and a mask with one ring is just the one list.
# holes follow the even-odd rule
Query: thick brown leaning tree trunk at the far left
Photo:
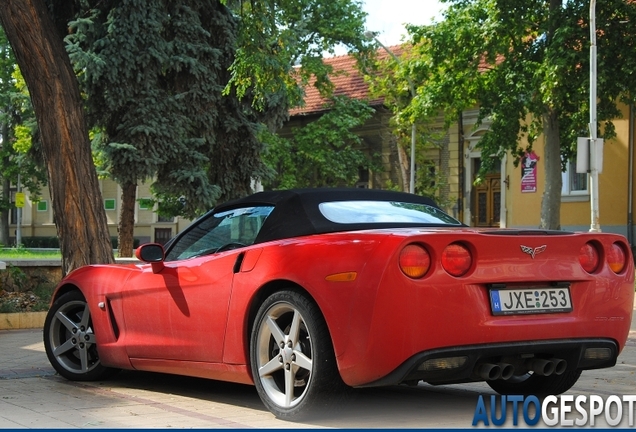
[[42, 137], [62, 271], [111, 263], [106, 214], [77, 78], [43, 0], [5, 0], [0, 22], [29, 88]]

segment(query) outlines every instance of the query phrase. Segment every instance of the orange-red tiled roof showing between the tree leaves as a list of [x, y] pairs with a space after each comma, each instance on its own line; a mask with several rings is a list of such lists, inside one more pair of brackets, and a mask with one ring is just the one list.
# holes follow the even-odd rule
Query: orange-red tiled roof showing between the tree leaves
[[[388, 49], [396, 55], [402, 52], [401, 46], [388, 47]], [[383, 49], [378, 51], [379, 59], [387, 56], [388, 54]], [[323, 62], [333, 67], [334, 74], [329, 78], [334, 85], [334, 96], [348, 96], [351, 99], [366, 100], [370, 105], [381, 105], [384, 102], [384, 98], [369, 99], [369, 85], [357, 69], [355, 57], [348, 55], [328, 57], [323, 59]], [[291, 109], [289, 111], [291, 117], [316, 114], [329, 109], [327, 106], [329, 101], [320, 95], [314, 83], [315, 79], [312, 79], [305, 87], [305, 105]]]

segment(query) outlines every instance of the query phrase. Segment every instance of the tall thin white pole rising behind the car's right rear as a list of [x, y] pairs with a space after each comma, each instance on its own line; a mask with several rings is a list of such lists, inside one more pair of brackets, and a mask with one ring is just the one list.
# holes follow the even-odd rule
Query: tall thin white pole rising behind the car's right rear
[[601, 232], [598, 206], [598, 160], [596, 118], [596, 0], [590, 0], [590, 232]]

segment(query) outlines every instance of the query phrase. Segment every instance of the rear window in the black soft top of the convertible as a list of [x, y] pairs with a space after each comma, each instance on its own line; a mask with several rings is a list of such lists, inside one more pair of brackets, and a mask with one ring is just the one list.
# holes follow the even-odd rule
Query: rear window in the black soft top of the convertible
[[396, 201], [332, 201], [320, 204], [323, 216], [334, 223], [421, 223], [461, 225], [442, 210], [426, 204]]

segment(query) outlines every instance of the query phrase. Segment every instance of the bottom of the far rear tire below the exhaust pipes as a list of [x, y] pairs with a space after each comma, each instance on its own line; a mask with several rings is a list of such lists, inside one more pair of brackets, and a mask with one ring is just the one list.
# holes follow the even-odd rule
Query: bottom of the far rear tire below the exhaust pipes
[[513, 376], [508, 380], [486, 381], [499, 394], [558, 395], [570, 390], [581, 376], [581, 370], [565, 371], [561, 375], [541, 376], [532, 373]]

